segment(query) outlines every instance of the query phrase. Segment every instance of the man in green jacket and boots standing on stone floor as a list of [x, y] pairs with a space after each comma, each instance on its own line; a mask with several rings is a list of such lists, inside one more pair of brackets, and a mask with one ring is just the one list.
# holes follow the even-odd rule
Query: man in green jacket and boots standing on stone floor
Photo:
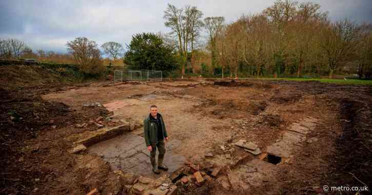
[[[163, 160], [165, 155], [164, 140], [168, 141], [169, 138], [165, 129], [163, 117], [158, 113], [158, 107], [156, 105], [151, 105], [150, 112], [149, 116], [143, 121], [143, 130], [147, 150], [150, 152], [152, 171], [155, 174], [160, 174], [159, 169], [168, 170]], [[155, 162], [156, 148], [159, 149], [157, 167]]]

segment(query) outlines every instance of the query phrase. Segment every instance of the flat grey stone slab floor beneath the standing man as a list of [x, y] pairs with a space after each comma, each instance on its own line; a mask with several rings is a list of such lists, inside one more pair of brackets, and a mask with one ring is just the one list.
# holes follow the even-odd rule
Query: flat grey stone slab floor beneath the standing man
[[[180, 145], [179, 140], [172, 139], [165, 144], [166, 154], [164, 163], [168, 166], [168, 171], [162, 174], [171, 174], [173, 171], [182, 167], [185, 158], [173, 153], [173, 148]], [[112, 170], [121, 169], [124, 172], [133, 172], [156, 178], [161, 175], [153, 174], [149, 159], [145, 139], [133, 133], [127, 133], [110, 140], [102, 141], [88, 148], [88, 153], [102, 156], [110, 163]], [[158, 151], [156, 151], [158, 156]], [[158, 158], [156, 157], [156, 161]]]

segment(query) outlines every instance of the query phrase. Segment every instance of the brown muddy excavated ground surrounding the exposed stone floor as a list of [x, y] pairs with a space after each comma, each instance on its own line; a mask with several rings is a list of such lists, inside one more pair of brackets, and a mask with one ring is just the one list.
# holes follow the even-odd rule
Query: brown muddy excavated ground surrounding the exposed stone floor
[[[178, 182], [178, 194], [326, 194], [324, 185], [372, 186], [372, 89], [367, 86], [188, 80], [7, 86], [0, 92], [0, 194], [86, 194], [93, 188], [126, 194], [113, 172], [118, 167], [105, 156], [89, 148], [82, 154], [69, 150], [74, 135], [100, 128], [92, 120], [109, 117], [100, 122], [104, 126], [141, 121], [151, 104], [159, 106], [175, 140], [170, 153], [201, 169], [206, 162], [228, 165], [201, 186]], [[103, 106], [84, 106], [95, 102]], [[276, 165], [266, 162], [268, 148], [308, 117], [317, 119], [316, 126], [298, 144], [285, 146], [290, 155]], [[142, 136], [141, 129], [131, 134]], [[254, 142], [262, 153], [232, 146], [240, 139]], [[247, 167], [256, 169], [251, 173]]]

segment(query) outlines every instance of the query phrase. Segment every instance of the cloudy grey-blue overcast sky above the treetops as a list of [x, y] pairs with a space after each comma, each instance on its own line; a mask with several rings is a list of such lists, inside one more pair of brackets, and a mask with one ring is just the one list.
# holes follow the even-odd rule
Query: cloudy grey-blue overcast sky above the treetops
[[[224, 16], [226, 23], [242, 14], [259, 13], [269, 0], [214, 1], [30, 1], [0, 0], [0, 38], [23, 40], [33, 51], [66, 52], [66, 42], [85, 36], [101, 46], [106, 41], [129, 44], [141, 32], [169, 32], [164, 27], [168, 3], [197, 6], [207, 16]], [[305, 2], [305, 1], [299, 1]], [[306, 1], [307, 2], [307, 1]], [[371, 0], [316, 0], [331, 20], [372, 21]]]

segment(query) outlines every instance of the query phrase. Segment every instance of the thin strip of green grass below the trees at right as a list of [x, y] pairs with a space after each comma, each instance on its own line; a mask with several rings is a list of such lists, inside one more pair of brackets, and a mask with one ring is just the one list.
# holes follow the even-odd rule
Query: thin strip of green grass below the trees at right
[[372, 80], [361, 79], [328, 79], [328, 78], [258, 78], [264, 80], [289, 80], [289, 81], [319, 81], [337, 84], [372, 85]]

